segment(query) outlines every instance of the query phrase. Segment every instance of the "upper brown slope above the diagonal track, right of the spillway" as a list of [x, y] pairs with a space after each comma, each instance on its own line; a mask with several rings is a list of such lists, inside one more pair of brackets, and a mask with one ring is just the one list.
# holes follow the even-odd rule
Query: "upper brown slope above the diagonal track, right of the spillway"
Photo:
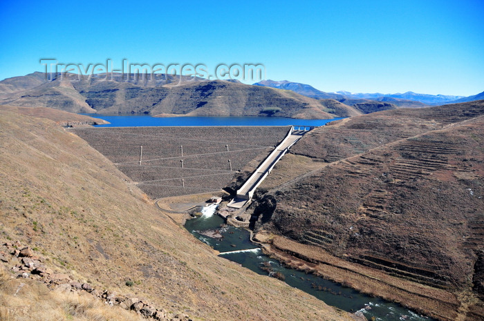
[[334, 162], [398, 139], [484, 114], [484, 101], [419, 109], [384, 110], [333, 121], [312, 130], [291, 152]]

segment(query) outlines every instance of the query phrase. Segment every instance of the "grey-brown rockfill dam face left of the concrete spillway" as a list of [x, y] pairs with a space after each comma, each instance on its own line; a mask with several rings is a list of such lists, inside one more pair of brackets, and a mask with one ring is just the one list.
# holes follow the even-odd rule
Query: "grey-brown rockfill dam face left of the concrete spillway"
[[265, 158], [289, 130], [290, 126], [196, 126], [75, 128], [73, 132], [156, 199], [220, 191], [253, 159]]

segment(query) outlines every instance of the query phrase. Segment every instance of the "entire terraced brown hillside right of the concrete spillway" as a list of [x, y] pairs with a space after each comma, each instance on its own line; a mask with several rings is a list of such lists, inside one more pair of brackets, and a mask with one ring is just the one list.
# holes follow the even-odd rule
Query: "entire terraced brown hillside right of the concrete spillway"
[[[454, 316], [421, 308], [441, 320], [481, 320], [482, 115], [477, 101], [387, 110], [313, 130], [291, 150], [312, 167], [283, 184], [268, 177], [257, 231], [445, 289], [460, 300], [447, 307]], [[287, 171], [284, 162], [295, 160], [281, 161]]]

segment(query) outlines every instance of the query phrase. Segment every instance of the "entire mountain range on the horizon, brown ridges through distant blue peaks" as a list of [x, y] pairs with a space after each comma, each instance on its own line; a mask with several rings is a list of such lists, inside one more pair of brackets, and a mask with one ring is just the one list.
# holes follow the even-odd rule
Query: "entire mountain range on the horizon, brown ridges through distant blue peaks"
[[397, 108], [421, 108], [430, 104], [445, 104], [452, 99], [471, 101], [484, 95], [324, 93], [308, 84], [291, 81], [265, 80], [252, 86], [239, 81], [158, 76], [143, 79], [133, 74], [109, 74], [109, 77], [96, 74], [88, 77], [75, 74], [50, 76], [33, 72], [0, 81], [0, 104], [109, 115], [331, 119]]

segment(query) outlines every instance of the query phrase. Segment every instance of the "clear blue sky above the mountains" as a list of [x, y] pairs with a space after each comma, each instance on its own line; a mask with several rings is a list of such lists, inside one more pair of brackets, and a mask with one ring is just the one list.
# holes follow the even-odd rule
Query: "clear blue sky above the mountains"
[[[261, 63], [354, 93], [484, 90], [484, 1], [1, 1], [0, 79], [41, 58]], [[119, 62], [118, 62], [119, 61]]]

